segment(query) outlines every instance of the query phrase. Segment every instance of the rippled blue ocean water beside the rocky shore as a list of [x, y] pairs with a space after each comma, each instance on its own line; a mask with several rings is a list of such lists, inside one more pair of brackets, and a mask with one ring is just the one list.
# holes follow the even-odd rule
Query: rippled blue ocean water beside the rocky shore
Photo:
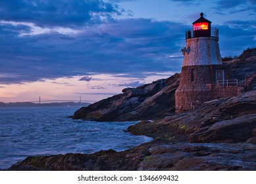
[[130, 149], [151, 141], [125, 133], [136, 122], [68, 118], [78, 107], [0, 108], [0, 169], [28, 156]]

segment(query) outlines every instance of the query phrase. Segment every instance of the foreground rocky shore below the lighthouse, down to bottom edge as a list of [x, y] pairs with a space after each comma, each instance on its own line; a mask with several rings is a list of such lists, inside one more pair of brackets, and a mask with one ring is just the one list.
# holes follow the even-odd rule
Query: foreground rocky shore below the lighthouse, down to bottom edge
[[127, 131], [153, 141], [122, 152], [30, 156], [9, 170], [256, 170], [256, 91]]

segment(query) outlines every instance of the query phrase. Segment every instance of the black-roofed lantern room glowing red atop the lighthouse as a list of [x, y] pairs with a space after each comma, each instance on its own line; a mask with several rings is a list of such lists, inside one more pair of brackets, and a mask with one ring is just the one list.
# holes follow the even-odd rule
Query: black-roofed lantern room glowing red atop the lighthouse
[[211, 36], [211, 21], [203, 18], [203, 12], [201, 17], [193, 22], [193, 37], [209, 37]]

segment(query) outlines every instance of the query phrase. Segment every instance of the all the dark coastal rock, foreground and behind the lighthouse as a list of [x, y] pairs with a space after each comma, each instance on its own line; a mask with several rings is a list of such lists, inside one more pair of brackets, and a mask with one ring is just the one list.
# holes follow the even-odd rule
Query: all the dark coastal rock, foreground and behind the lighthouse
[[[242, 82], [256, 73], [256, 57], [229, 61]], [[256, 83], [256, 80], [253, 81]], [[72, 118], [98, 121], [145, 119], [126, 131], [153, 141], [116, 152], [30, 156], [9, 170], [256, 170], [256, 90], [174, 113], [179, 74], [78, 110]], [[154, 121], [149, 121], [154, 120]]]

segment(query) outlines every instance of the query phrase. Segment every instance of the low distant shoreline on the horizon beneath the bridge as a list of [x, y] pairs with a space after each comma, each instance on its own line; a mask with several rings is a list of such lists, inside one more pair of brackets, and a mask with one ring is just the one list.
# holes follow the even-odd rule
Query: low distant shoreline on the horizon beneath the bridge
[[0, 108], [7, 107], [49, 107], [49, 106], [88, 106], [90, 103], [74, 103], [74, 102], [64, 102], [64, 103], [1, 103]]

